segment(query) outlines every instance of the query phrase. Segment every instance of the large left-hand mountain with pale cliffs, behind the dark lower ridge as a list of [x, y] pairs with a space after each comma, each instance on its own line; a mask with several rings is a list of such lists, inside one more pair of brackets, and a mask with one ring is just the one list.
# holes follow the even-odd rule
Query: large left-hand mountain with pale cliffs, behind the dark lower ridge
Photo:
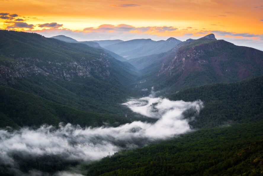
[[[100, 113], [99, 116], [114, 114], [114, 118], [129, 112], [120, 103], [128, 96], [136, 95], [129, 86], [137, 77], [130, 64], [116, 60], [101, 49], [45, 38], [35, 33], [1, 30], [0, 36], [1, 85], [40, 96], [44, 104], [48, 104], [45, 105], [47, 107], [56, 103], [80, 111]], [[1, 112], [12, 118], [14, 111], [21, 112], [19, 106], [12, 112]], [[51, 112], [57, 122], [62, 118], [53, 110]]]

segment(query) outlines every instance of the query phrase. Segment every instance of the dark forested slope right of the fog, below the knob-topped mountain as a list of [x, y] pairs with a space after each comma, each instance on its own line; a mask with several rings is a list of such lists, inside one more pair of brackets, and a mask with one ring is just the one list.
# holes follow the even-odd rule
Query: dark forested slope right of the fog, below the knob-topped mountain
[[195, 128], [260, 120], [263, 115], [263, 76], [237, 83], [189, 88], [171, 95], [169, 99], [201, 99], [204, 102], [205, 108], [190, 123]]

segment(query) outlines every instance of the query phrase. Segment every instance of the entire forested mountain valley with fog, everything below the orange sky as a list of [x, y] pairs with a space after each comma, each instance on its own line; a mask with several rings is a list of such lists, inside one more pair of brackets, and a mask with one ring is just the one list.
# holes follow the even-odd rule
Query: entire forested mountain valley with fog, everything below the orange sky
[[262, 67], [214, 34], [0, 30], [0, 175], [262, 175]]

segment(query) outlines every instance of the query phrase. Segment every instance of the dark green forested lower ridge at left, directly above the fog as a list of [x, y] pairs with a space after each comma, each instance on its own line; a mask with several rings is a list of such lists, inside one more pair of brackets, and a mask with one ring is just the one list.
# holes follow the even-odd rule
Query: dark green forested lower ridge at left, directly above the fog
[[60, 122], [102, 126], [103, 122], [115, 122], [113, 118], [77, 110], [6, 86], [0, 86], [0, 111], [1, 127], [57, 126]]

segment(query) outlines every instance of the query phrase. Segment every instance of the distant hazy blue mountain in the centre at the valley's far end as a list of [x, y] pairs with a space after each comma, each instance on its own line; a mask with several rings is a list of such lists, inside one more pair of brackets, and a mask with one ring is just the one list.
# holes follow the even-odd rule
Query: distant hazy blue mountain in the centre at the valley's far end
[[166, 41], [153, 41], [151, 39], [134, 39], [125, 42], [119, 42], [112, 45], [104, 46], [105, 49], [110, 50], [118, 55], [126, 58], [137, 58], [152, 54], [166, 52], [172, 49], [181, 41], [175, 38], [169, 38]]

